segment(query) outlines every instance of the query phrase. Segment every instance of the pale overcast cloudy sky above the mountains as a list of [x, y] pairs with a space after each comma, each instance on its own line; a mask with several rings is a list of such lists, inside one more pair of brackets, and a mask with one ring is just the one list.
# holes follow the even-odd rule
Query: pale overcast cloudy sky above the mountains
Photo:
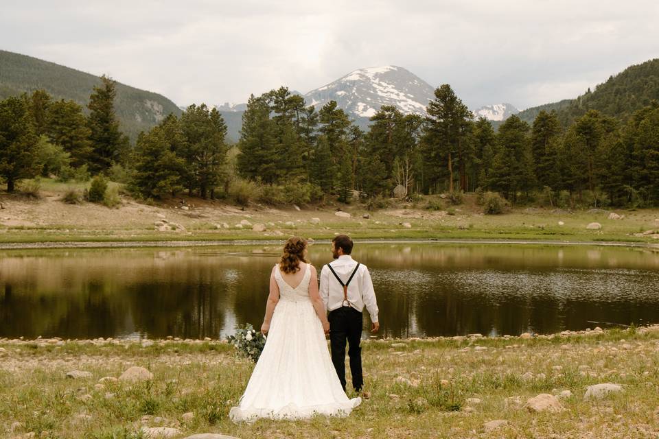
[[658, 57], [658, 22], [651, 0], [3, 0], [0, 49], [178, 105], [306, 93], [394, 64], [471, 108], [527, 108]]

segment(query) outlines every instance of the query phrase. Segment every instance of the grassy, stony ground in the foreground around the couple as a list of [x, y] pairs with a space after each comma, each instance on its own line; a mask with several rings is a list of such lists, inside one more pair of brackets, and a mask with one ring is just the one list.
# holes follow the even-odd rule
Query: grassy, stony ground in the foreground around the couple
[[[227, 414], [253, 365], [224, 342], [0, 340], [0, 436], [141, 438], [142, 427], [157, 426], [178, 429], [176, 438], [659, 436], [659, 326], [363, 346], [372, 396], [348, 418], [233, 425]], [[130, 366], [148, 368], [154, 379], [100, 382]], [[71, 370], [91, 377], [67, 379]], [[584, 399], [597, 383], [623, 390]], [[559, 396], [561, 409], [531, 412], [527, 399], [542, 393]], [[485, 427], [492, 420], [506, 422]]]

